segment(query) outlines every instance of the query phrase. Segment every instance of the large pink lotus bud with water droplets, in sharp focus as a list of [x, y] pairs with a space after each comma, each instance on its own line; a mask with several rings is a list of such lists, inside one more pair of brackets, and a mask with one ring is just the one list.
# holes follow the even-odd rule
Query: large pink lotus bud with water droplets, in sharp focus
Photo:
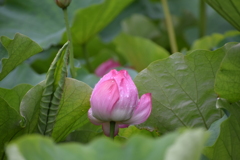
[[110, 134], [110, 121], [116, 122], [115, 135], [119, 128], [140, 124], [147, 120], [152, 110], [151, 93], [138, 99], [138, 91], [126, 70], [111, 70], [93, 89], [89, 120], [102, 125], [104, 134]]

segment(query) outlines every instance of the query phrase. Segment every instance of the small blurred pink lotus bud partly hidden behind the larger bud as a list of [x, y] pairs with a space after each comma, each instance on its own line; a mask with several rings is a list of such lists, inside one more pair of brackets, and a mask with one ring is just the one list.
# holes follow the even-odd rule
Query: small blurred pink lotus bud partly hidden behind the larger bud
[[99, 77], [104, 76], [111, 69], [121, 66], [120, 63], [114, 61], [113, 59], [109, 59], [103, 62], [98, 68], [95, 70], [95, 74]]

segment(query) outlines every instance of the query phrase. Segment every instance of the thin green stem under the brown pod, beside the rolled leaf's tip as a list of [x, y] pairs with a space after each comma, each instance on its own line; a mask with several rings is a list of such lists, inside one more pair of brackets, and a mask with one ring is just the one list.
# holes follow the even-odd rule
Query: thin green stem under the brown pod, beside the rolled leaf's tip
[[63, 9], [64, 13], [64, 20], [66, 24], [66, 29], [67, 29], [67, 37], [69, 40], [69, 51], [70, 51], [70, 57], [69, 57], [69, 62], [70, 62], [70, 72], [73, 78], [76, 77], [76, 70], [74, 66], [74, 55], [73, 55], [73, 44], [72, 44], [72, 36], [71, 36], [71, 30], [69, 27], [69, 22], [68, 22], [68, 13], [67, 13], [67, 8]]

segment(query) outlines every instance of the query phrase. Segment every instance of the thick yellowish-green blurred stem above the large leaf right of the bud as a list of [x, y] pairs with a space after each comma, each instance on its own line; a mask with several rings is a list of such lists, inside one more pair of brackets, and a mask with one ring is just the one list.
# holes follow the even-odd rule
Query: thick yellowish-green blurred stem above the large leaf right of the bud
[[166, 17], [166, 25], [167, 25], [171, 50], [172, 50], [172, 53], [175, 53], [175, 52], [178, 51], [178, 48], [177, 48], [177, 42], [176, 42], [174, 27], [173, 27], [173, 23], [172, 23], [172, 17], [171, 17], [170, 11], [169, 11], [167, 0], [161, 0], [161, 1], [162, 1], [162, 6], [163, 6], [163, 12], [164, 12], [164, 15]]

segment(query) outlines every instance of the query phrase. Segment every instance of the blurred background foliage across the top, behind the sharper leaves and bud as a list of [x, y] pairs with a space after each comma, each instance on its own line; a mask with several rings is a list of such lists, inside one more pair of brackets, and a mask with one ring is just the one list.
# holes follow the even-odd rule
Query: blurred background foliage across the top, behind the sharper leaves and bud
[[[111, 8], [113, 6], [108, 6], [107, 3], [109, 2], [104, 2], [104, 0], [73, 0], [68, 9], [70, 23], [74, 30], [73, 37], [81, 35], [81, 28], [78, 27], [81, 27], [83, 23], [89, 30], [94, 30], [86, 40], [80, 40], [80, 42], [79, 38], [74, 38], [73, 41], [75, 66], [81, 67], [79, 73], [85, 73], [85, 77], [81, 75], [78, 79], [91, 86], [94, 86], [98, 80], [93, 74], [94, 70], [110, 58], [119, 61], [123, 67], [131, 67], [139, 72], [152, 61], [171, 54], [165, 16], [160, 1], [129, 1], [129, 5], [122, 6], [122, 9], [114, 12]], [[200, 3], [199, 0], [168, 1], [177, 45], [179, 51], [184, 54], [189, 50], [199, 48], [214, 50], [226, 42], [239, 39], [238, 32], [226, 33], [235, 29], [207, 4], [205, 4], [205, 33], [204, 36], [200, 36]], [[62, 11], [55, 6], [54, 1], [48, 0], [28, 0], [28, 3], [18, 0], [1, 0], [0, 4], [0, 35], [13, 38], [16, 33], [22, 33], [43, 48], [41, 53], [32, 56], [11, 72], [1, 81], [0, 86], [12, 88], [19, 83], [36, 85], [44, 79], [44, 74], [58, 49], [66, 41]], [[98, 7], [98, 5], [103, 7]], [[91, 9], [94, 6], [99, 8], [99, 13], [106, 15], [109, 15], [109, 12], [105, 13], [104, 10], [109, 8], [113, 16], [91, 18], [94, 15], [90, 14], [88, 8]], [[85, 15], [87, 19], [83, 19], [81, 12], [89, 12]], [[124, 38], [128, 37], [130, 43], [124, 44], [125, 39], [121, 38], [123, 35], [125, 35]], [[153, 46], [152, 51], [148, 50], [149, 48], [144, 49], [143, 44]], [[4, 47], [0, 45], [0, 49], [4, 50]], [[163, 50], [165, 53], [161, 52]], [[131, 57], [127, 51], [139, 56]], [[151, 58], [148, 58], [149, 56]], [[21, 75], [31, 73], [31, 79], [26, 76], [19, 77], [19, 73]]]

